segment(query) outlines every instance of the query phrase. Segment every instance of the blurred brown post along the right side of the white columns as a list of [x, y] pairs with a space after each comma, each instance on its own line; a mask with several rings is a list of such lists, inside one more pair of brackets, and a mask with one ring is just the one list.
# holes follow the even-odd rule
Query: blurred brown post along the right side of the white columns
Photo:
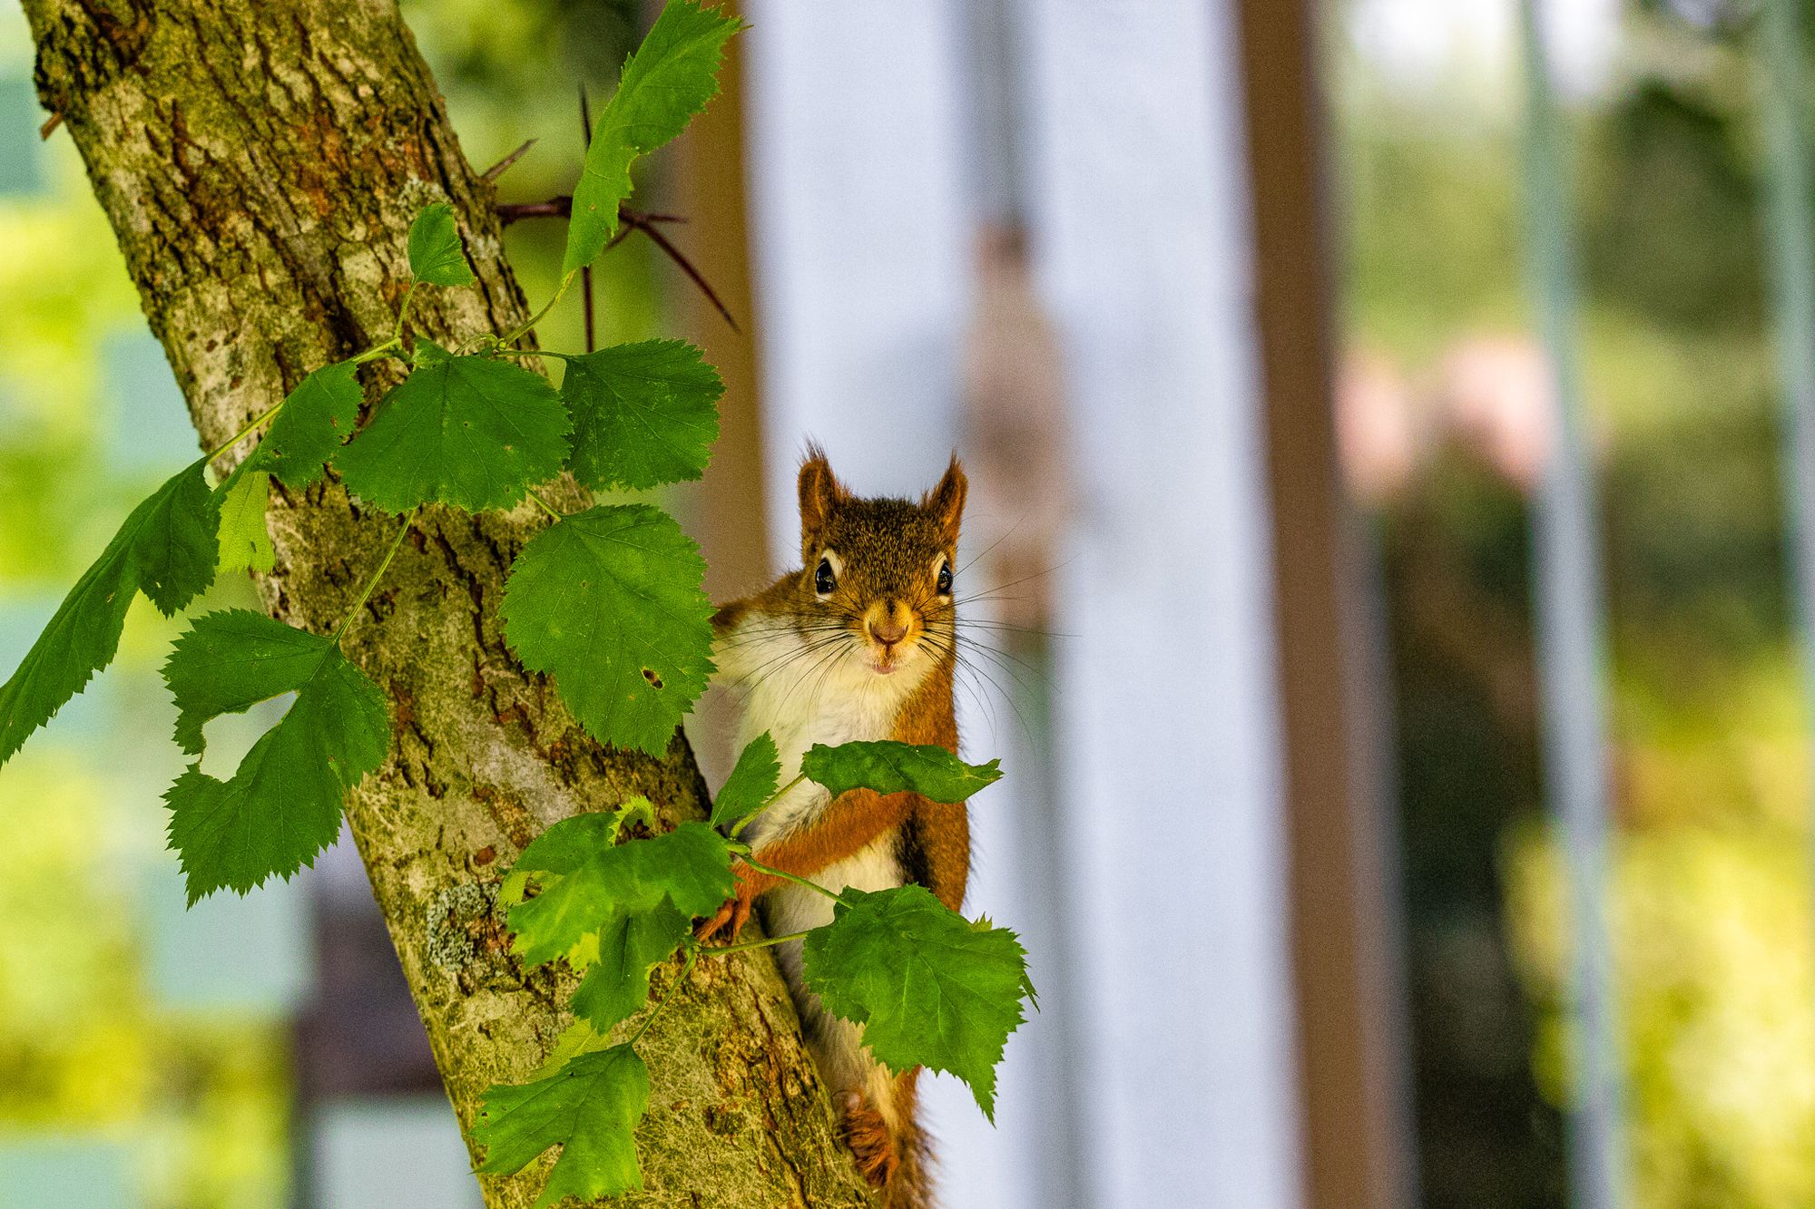
[[1359, 543], [1338, 465], [1312, 0], [1241, 0], [1256, 316], [1272, 487], [1307, 1204], [1410, 1200], [1399, 904], [1367, 675]]

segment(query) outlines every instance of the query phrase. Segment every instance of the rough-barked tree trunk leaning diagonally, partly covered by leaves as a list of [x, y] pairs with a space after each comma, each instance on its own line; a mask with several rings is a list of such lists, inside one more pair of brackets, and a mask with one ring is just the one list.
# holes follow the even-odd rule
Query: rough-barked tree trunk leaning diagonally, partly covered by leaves
[[[40, 96], [87, 163], [205, 447], [307, 370], [388, 336], [405, 232], [427, 202], [454, 203], [479, 285], [419, 290], [412, 327], [463, 339], [523, 321], [492, 189], [394, 0], [25, 0], [25, 13]], [[332, 476], [298, 494], [274, 485], [269, 610], [327, 632], [396, 525]], [[505, 951], [501, 870], [572, 813], [646, 793], [673, 822], [706, 801], [684, 739], [661, 761], [601, 748], [510, 657], [497, 603], [537, 526], [526, 508], [428, 508], [348, 632], [348, 655], [392, 697], [394, 750], [347, 813], [463, 1127], [488, 1084], [526, 1076], [570, 1022], [568, 982]], [[675, 977], [659, 971], [657, 993]], [[624, 1204], [868, 1205], [768, 955], [699, 962], [677, 995], [639, 1046], [655, 1080], [637, 1147], [646, 1191]], [[488, 1205], [528, 1205], [541, 1171], [481, 1184]]]

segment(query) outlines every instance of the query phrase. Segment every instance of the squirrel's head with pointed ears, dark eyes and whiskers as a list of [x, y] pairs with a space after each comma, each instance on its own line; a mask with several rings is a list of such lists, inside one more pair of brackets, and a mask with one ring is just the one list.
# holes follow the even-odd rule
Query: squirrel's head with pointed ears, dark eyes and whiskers
[[946, 476], [918, 501], [862, 499], [839, 481], [819, 447], [808, 447], [797, 617], [828, 639], [849, 634], [878, 675], [951, 654], [964, 492], [964, 468], [953, 456]]

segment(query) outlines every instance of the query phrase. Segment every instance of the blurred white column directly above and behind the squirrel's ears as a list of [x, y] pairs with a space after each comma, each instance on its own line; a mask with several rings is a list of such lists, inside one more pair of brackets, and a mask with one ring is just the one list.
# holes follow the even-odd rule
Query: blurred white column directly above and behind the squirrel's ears
[[793, 566], [808, 437], [868, 494], [918, 494], [951, 456], [971, 281], [958, 15], [953, 0], [746, 13], [770, 530]]

